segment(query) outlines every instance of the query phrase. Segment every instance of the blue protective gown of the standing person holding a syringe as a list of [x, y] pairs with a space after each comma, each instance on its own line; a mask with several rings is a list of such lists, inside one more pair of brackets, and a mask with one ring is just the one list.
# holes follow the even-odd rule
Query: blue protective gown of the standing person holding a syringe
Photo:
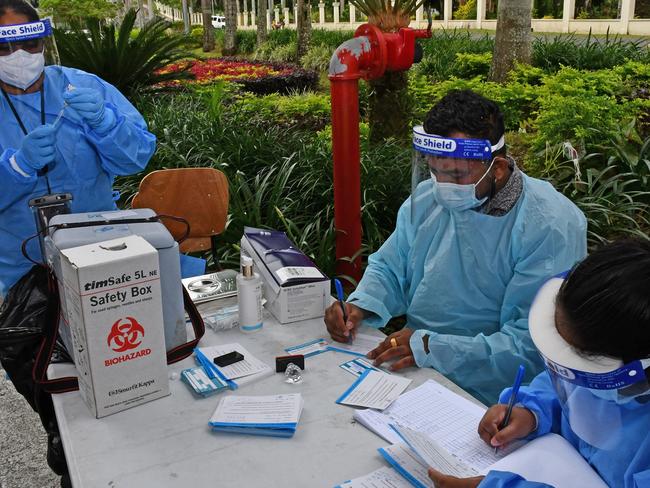
[[[72, 109], [64, 112], [57, 132], [56, 158], [47, 174], [52, 193], [72, 193], [72, 212], [115, 209], [112, 197], [116, 175], [129, 175], [145, 168], [156, 138], [147, 131], [142, 116], [112, 85], [95, 75], [71, 68], [45, 68], [45, 122], [54, 123], [63, 107], [67, 86], [98, 90], [116, 118], [106, 134], [91, 129]], [[27, 131], [41, 124], [40, 92], [10, 95]], [[45, 177], [25, 177], [14, 170], [10, 158], [20, 148], [23, 132], [9, 104], [0, 96], [0, 295], [29, 271], [32, 263], [23, 257], [21, 244], [36, 234], [36, 224], [28, 201], [48, 193]], [[30, 257], [40, 260], [38, 239], [30, 241]]]

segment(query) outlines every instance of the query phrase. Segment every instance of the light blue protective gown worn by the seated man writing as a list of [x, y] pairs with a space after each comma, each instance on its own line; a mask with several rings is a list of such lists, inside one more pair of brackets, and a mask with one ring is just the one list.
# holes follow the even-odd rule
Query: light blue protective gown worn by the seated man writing
[[418, 187], [413, 217], [411, 198], [402, 205], [349, 301], [371, 312], [364, 323], [372, 327], [406, 314], [417, 365], [492, 404], [519, 364], [528, 381], [543, 369], [528, 311], [550, 276], [586, 255], [586, 220], [549, 183], [525, 175], [519, 200], [501, 217], [430, 203], [431, 185]]

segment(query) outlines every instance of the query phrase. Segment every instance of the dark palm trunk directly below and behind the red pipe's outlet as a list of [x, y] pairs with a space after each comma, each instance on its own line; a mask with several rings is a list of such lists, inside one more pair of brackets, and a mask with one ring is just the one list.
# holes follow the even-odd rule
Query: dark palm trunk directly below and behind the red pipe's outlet
[[411, 98], [407, 73], [388, 71], [381, 78], [370, 81], [370, 86], [370, 143], [378, 144], [389, 137], [408, 138]]

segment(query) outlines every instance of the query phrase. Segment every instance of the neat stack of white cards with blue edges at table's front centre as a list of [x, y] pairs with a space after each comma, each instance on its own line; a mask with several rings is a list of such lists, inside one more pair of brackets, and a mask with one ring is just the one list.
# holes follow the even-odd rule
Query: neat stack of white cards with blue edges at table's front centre
[[209, 424], [220, 432], [293, 437], [302, 407], [300, 393], [229, 396], [221, 400]]

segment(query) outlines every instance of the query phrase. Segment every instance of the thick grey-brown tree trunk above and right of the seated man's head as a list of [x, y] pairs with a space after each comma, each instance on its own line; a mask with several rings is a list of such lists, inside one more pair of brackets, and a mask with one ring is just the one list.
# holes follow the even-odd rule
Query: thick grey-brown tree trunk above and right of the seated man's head
[[499, 0], [491, 81], [503, 83], [515, 63], [530, 63], [532, 7], [530, 0]]

